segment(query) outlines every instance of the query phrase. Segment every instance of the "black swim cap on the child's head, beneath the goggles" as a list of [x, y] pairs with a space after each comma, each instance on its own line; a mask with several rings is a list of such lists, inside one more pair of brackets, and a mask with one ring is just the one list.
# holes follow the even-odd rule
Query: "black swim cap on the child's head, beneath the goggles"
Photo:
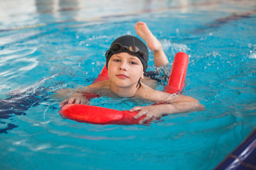
[[[122, 46], [125, 46], [122, 48], [122, 50], [114, 51], [111, 49], [112, 45], [119, 44]], [[140, 52], [131, 52], [127, 49], [127, 47], [130, 47], [131, 45], [134, 45], [139, 48]], [[110, 49], [106, 52], [106, 67], [108, 67], [108, 62], [110, 61], [110, 58], [112, 55], [120, 53], [120, 52], [128, 52], [131, 55], [135, 55], [141, 60], [144, 68], [144, 72], [146, 72], [147, 68], [147, 60], [149, 59], [149, 50], [147, 49], [146, 45], [142, 40], [139, 40], [139, 38], [136, 38], [132, 35], [123, 35], [117, 39], [115, 39], [112, 44], [110, 45]]]

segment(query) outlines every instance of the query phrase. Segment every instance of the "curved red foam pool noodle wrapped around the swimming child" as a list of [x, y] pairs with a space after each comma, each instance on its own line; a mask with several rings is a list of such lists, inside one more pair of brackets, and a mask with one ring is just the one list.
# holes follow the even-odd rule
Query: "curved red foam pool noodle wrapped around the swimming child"
[[[171, 73], [164, 91], [174, 94], [183, 89], [184, 81], [186, 78], [186, 70], [188, 68], [188, 55], [184, 52], [178, 52], [174, 57], [174, 62], [171, 67]], [[99, 74], [95, 82], [107, 80], [107, 67], [103, 67], [102, 72]], [[89, 98], [98, 97], [97, 95], [89, 95]], [[98, 106], [89, 106], [82, 104], [66, 104], [60, 108], [60, 115], [63, 118], [76, 120], [83, 123], [92, 124], [117, 124], [117, 125], [134, 125], [138, 124], [141, 118], [134, 119], [138, 111], [117, 111], [110, 108], [102, 108]]]

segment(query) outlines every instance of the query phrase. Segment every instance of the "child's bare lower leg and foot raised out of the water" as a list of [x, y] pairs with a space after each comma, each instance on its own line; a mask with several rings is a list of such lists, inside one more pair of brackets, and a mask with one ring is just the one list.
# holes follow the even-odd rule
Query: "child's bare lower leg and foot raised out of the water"
[[146, 26], [146, 23], [137, 22], [135, 25], [135, 30], [137, 35], [146, 41], [146, 45], [152, 50], [154, 55], [154, 64], [156, 67], [160, 67], [164, 64], [169, 63], [168, 58], [166, 57], [161, 43], [156, 37], [151, 33], [149, 28]]

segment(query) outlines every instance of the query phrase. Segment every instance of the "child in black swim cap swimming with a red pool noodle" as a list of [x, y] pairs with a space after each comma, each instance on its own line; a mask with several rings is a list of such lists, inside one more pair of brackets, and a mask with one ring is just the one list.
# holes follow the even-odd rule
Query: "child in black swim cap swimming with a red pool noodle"
[[[169, 63], [161, 47], [161, 43], [154, 37], [149, 28], [147, 28], [146, 23], [138, 22], [135, 25], [135, 30], [139, 37], [146, 41], [149, 49], [153, 51], [156, 67]], [[60, 103], [60, 106], [63, 106], [67, 102], [89, 103], [84, 96], [86, 93], [115, 98], [143, 99], [155, 103], [162, 103], [154, 106], [137, 106], [130, 109], [129, 111], [139, 111], [137, 115], [134, 115], [134, 118], [140, 118], [142, 115], [146, 115], [139, 123], [144, 123], [149, 119], [156, 120], [161, 115], [201, 111], [205, 109], [195, 98], [156, 91], [144, 84], [141, 80], [144, 79], [148, 57], [149, 52], [142, 40], [132, 35], [124, 35], [117, 38], [112, 42], [110, 49], [106, 52], [106, 66], [110, 79], [75, 89], [69, 98]], [[70, 92], [70, 90], [68, 91]], [[58, 92], [59, 94], [63, 94], [63, 92], [66, 94], [68, 91]]]

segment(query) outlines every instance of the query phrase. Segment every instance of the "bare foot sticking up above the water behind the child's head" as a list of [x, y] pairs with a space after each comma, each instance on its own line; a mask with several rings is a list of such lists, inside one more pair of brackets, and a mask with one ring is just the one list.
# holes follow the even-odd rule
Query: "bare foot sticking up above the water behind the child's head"
[[146, 41], [146, 45], [149, 47], [150, 50], [152, 50], [153, 52], [161, 50], [161, 43], [151, 33], [149, 28], [146, 26], [146, 23], [139, 21], [136, 23], [134, 28], [137, 35], [139, 35], [139, 37]]

